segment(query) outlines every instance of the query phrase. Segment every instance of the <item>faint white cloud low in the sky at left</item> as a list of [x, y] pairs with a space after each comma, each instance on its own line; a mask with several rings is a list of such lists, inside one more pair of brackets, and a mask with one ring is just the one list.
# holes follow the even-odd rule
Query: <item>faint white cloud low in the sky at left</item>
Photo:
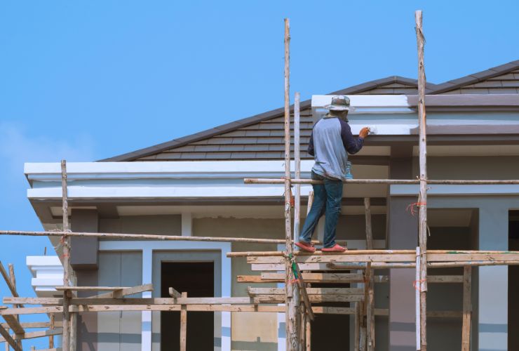
[[25, 162], [94, 161], [93, 140], [79, 135], [60, 140], [62, 135], [31, 136], [23, 126], [0, 121], [0, 161], [17, 176]]

